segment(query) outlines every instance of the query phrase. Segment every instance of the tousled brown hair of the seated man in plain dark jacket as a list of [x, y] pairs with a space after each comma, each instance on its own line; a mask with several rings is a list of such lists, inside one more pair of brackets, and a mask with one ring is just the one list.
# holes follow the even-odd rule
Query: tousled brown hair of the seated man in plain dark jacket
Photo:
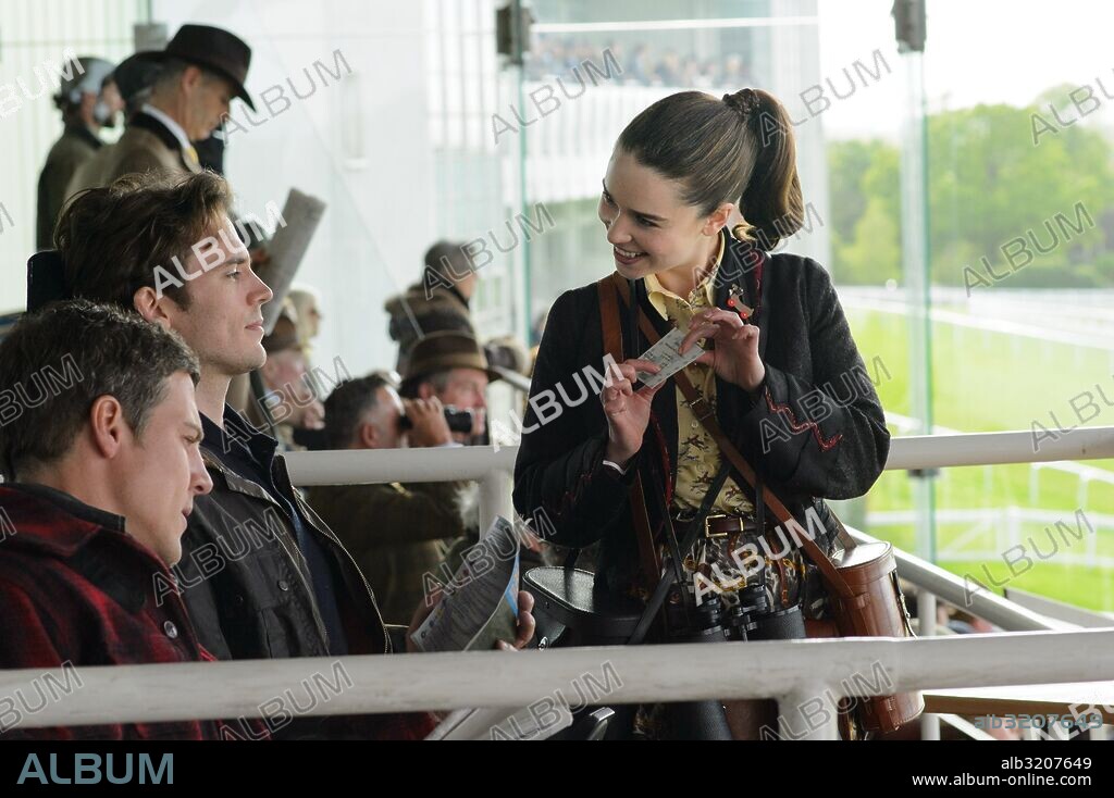
[[[216, 234], [232, 205], [219, 175], [187, 177], [127, 175], [111, 186], [81, 191], [62, 210], [55, 246], [66, 263], [66, 285], [74, 296], [135, 309], [133, 297], [145, 286], [189, 307], [185, 268], [194, 245]], [[224, 228], [222, 228], [224, 233]], [[235, 233], [225, 233], [231, 240]], [[164, 270], [156, 282], [156, 267]], [[167, 277], [177, 284], [167, 285]]]

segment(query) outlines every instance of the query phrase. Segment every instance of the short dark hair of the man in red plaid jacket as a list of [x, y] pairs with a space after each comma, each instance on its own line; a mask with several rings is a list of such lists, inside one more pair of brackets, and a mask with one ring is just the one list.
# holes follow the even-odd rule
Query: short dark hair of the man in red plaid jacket
[[194, 353], [137, 313], [74, 299], [23, 316], [0, 342], [0, 472], [16, 480], [59, 460], [105, 395], [141, 437], [177, 372], [197, 384]]

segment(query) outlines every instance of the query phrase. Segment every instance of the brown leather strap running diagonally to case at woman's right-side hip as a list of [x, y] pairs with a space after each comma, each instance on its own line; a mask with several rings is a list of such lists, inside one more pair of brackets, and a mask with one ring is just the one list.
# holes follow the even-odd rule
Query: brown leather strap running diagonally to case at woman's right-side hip
[[[627, 289], [626, 280], [624, 280], [618, 273], [615, 273], [613, 277], [617, 279], [612, 279], [612, 285], [615, 287], [618, 297], [624, 304], [629, 302], [629, 292]], [[615, 308], [616, 324], [618, 323], [618, 308]], [[649, 339], [651, 345], [656, 344], [661, 337], [657, 331], [654, 329], [654, 325], [649, 323], [646, 315], [638, 314], [638, 326], [642, 328], [643, 334]], [[727, 439], [726, 434], [723, 432], [723, 427], [720, 426], [719, 420], [715, 417], [715, 412], [712, 406], [704, 400], [703, 396], [693, 387], [693, 384], [685, 376], [683, 371], [677, 372], [673, 375], [674, 382], [676, 382], [677, 387], [681, 388], [681, 393], [684, 394], [685, 400], [688, 402], [693, 410], [693, 414], [704, 425], [704, 428], [709, 431], [712, 437], [715, 440], [716, 444], [720, 446], [720, 453], [726, 457], [731, 464], [734, 466], [735, 471], [742, 474], [743, 479], [746, 480], [751, 489], [754, 490], [755, 485], [755, 474], [754, 469], [751, 467], [750, 463], [743, 457], [743, 455], [735, 449], [734, 444]], [[820, 569], [824, 578], [831, 584], [831, 587], [837, 590], [841, 595], [853, 597], [854, 592], [848, 587], [847, 582], [839, 574], [839, 570], [836, 568], [836, 563], [831, 561], [824, 551], [817, 545], [815, 541], [809, 532], [801, 526], [801, 524], [793, 518], [793, 514], [789, 512], [789, 509], [782, 503], [780, 499], [770, 490], [765, 484], [762, 485], [762, 499], [765, 505], [770, 508], [778, 521], [785, 528], [790, 534], [795, 538], [804, 553], [809, 555], [813, 564]]]

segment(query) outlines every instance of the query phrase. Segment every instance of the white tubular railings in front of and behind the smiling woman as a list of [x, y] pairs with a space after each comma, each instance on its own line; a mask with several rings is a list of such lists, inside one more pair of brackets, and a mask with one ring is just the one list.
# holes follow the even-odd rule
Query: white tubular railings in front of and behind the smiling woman
[[[478, 480], [481, 529], [510, 515], [515, 447], [314, 452], [289, 455], [295, 484]], [[888, 470], [1114, 457], [1114, 427], [1076, 430], [1034, 454], [1027, 432], [897, 439]], [[856, 533], [861, 539], [868, 535]], [[931, 633], [935, 597], [966, 605], [1007, 632], [949, 638], [843, 639], [551, 649], [518, 654], [467, 652], [81, 668], [81, 687], [65, 700], [26, 713], [25, 727], [257, 717], [261, 707], [314, 674], [349, 677], [333, 700], [310, 701], [305, 715], [394, 712], [465, 707], [528, 707], [605, 666], [616, 677], [603, 702], [775, 698], [782, 731], [834, 739], [832, 702], [864, 694], [872, 674], [880, 692], [1110, 680], [1114, 629], [1063, 630], [988, 591], [971, 594], [954, 574], [907, 552], [898, 570], [918, 589], [919, 614]], [[1071, 652], [1051, 657], [1049, 652]], [[880, 671], [879, 671], [880, 669]], [[759, 678], [760, 674], [760, 678]], [[852, 679], [861, 674], [862, 679]], [[0, 671], [0, 697], [35, 694], [43, 671]], [[61, 672], [56, 681], [65, 682]], [[602, 676], [596, 676], [599, 681]], [[850, 680], [850, 681], [849, 681]], [[351, 684], [349, 684], [349, 681]], [[802, 709], [803, 708], [803, 709]], [[265, 715], [265, 712], [263, 712]]]

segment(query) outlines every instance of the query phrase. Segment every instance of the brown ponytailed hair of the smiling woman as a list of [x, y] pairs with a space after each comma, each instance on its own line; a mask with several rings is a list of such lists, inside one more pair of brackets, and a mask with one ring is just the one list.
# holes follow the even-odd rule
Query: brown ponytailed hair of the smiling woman
[[804, 224], [792, 122], [766, 91], [671, 95], [636, 116], [618, 146], [680, 183], [681, 198], [702, 216], [735, 203], [744, 235], [765, 250]]

